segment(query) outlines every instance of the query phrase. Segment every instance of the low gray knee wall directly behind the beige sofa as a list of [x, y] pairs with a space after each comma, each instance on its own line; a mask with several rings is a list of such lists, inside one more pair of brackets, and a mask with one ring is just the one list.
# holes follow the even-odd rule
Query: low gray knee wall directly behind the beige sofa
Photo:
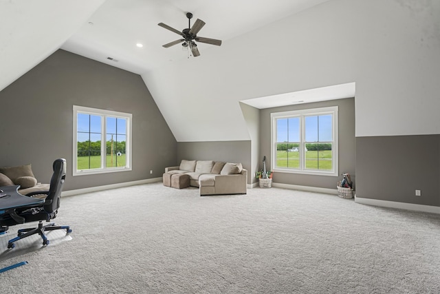
[[187, 160], [214, 160], [224, 162], [241, 162], [248, 170], [248, 184], [250, 183], [251, 141], [215, 141], [215, 142], [179, 142], [177, 143], [177, 160], [179, 165], [182, 159]]

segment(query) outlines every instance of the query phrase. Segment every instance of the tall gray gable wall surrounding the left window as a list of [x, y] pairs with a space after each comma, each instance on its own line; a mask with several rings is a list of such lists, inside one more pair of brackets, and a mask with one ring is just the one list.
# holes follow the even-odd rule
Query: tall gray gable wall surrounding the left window
[[[0, 103], [0, 166], [31, 163], [40, 182], [56, 158], [67, 160], [65, 190], [161, 177], [176, 162], [177, 142], [137, 74], [58, 50], [2, 90]], [[133, 114], [132, 171], [72, 176], [73, 105]]]

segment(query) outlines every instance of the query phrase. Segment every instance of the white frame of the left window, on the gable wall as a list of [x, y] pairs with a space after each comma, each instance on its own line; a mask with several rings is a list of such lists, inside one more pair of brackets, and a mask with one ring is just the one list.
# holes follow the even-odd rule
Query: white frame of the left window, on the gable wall
[[[77, 134], [78, 134], [78, 114], [91, 114], [96, 116], [101, 116], [101, 154], [107, 154], [106, 150], [106, 124], [107, 124], [107, 116], [115, 117], [115, 118], [124, 118], [126, 119], [126, 142], [125, 142], [125, 167], [106, 167], [106, 157], [101, 156], [101, 168], [99, 169], [79, 169], [77, 166], [77, 156], [78, 156], [78, 143], [77, 143]], [[131, 121], [132, 114], [124, 113], [124, 112], [114, 112], [111, 110], [105, 109], [97, 109], [91, 107], [83, 107], [74, 105], [74, 145], [73, 145], [73, 164], [72, 164], [72, 175], [73, 176], [85, 176], [91, 174], [107, 174], [114, 173], [119, 171], [131, 171]]]

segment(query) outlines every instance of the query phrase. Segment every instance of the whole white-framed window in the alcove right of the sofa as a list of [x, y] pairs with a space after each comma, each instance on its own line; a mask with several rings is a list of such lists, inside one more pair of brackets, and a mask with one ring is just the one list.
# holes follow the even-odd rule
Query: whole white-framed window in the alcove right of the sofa
[[272, 118], [274, 171], [338, 176], [338, 107], [278, 112]]

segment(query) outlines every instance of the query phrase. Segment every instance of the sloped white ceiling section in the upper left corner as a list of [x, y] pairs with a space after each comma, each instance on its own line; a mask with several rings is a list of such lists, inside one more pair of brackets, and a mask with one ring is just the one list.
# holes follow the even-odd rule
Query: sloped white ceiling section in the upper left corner
[[0, 91], [58, 50], [104, 0], [1, 0]]

